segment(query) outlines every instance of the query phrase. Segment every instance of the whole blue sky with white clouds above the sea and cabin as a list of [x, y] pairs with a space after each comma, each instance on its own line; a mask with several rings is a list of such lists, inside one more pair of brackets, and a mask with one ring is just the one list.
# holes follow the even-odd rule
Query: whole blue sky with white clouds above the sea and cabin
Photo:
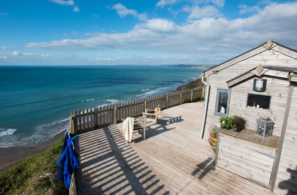
[[297, 49], [297, 1], [0, 0], [0, 65], [220, 64]]

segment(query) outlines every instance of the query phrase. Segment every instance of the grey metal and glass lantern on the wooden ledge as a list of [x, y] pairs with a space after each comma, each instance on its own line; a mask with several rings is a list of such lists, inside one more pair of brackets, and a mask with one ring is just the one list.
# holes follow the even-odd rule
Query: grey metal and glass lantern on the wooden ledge
[[255, 134], [261, 138], [269, 138], [272, 135], [273, 121], [269, 117], [261, 116], [257, 119]]

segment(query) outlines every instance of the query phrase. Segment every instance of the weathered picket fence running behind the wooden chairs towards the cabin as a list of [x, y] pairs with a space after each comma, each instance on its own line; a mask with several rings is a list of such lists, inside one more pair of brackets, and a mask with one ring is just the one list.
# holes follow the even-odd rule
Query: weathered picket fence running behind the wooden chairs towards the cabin
[[204, 92], [204, 87], [198, 87], [127, 102], [119, 102], [103, 107], [75, 110], [74, 116], [72, 116], [74, 134], [106, 125], [117, 124], [123, 118], [141, 116], [145, 108], [154, 109], [160, 105], [161, 109], [166, 109], [176, 105], [198, 101], [201, 96], [204, 97]]

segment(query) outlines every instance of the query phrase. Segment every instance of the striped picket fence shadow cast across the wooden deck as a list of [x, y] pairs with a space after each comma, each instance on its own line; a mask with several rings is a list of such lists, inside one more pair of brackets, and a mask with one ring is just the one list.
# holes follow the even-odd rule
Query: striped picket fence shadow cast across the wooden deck
[[169, 194], [116, 125], [95, 131], [80, 134], [78, 194]]

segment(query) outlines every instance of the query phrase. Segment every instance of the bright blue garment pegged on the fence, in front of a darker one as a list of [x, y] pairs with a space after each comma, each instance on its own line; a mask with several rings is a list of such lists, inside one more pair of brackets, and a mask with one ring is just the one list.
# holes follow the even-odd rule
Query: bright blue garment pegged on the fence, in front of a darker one
[[64, 152], [62, 153], [61, 157], [58, 159], [57, 163], [60, 164], [60, 166], [63, 166], [64, 163], [64, 182], [67, 189], [69, 189], [70, 183], [71, 183], [71, 176], [73, 173], [74, 168], [79, 168], [79, 162], [77, 160], [77, 156], [75, 153], [75, 150], [73, 150], [72, 143], [75, 143], [75, 139], [68, 138], [66, 140], [66, 148]]

